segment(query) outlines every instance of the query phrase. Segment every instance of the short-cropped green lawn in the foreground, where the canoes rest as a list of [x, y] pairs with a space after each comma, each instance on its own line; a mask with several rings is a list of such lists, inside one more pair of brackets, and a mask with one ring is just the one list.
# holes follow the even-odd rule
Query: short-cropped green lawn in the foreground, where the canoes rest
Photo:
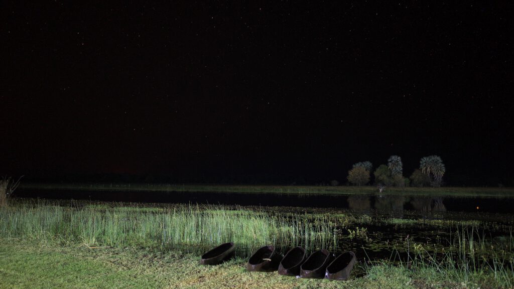
[[[445, 281], [407, 270], [374, 266], [349, 281], [305, 280], [277, 273], [249, 273], [245, 260], [198, 265], [198, 256], [144, 249], [90, 249], [0, 239], [0, 288], [461, 288], [472, 283]], [[357, 269], [363, 272], [362, 269]], [[482, 288], [484, 286], [482, 285]]]

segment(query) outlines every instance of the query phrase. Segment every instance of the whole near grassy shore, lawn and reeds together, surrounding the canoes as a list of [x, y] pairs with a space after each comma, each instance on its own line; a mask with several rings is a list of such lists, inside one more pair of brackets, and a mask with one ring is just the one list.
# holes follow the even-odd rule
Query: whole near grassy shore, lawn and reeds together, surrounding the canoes
[[[131, 207], [88, 202], [64, 206], [18, 200], [0, 208], [0, 287], [514, 286], [510, 223], [500, 226], [509, 231], [499, 239], [488, 237], [484, 231], [489, 223], [465, 220], [431, 224], [376, 218], [335, 211], [306, 213], [212, 205]], [[450, 235], [439, 238], [441, 232], [432, 231], [430, 238], [414, 236], [418, 227], [426, 225], [448, 229]], [[383, 231], [371, 231], [373, 227]], [[400, 227], [410, 229], [383, 244], [380, 234], [393, 228], [399, 231]], [[348, 282], [297, 280], [245, 270], [249, 254], [264, 244], [283, 249], [301, 245], [313, 251], [340, 249], [336, 245], [346, 242], [343, 249], [347, 250], [357, 239], [363, 245], [382, 244], [381, 250], [389, 250], [390, 257], [369, 258], [367, 252], [360, 252], [359, 267]], [[212, 267], [197, 264], [201, 252], [227, 241], [237, 244], [236, 259]]]

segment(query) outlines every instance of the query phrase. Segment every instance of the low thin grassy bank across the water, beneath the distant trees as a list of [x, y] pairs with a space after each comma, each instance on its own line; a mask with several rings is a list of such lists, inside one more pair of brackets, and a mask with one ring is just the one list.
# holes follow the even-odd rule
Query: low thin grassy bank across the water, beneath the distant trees
[[[260, 186], [260, 185], [173, 185], [173, 184], [22, 184], [21, 189], [49, 190], [105, 190], [154, 192], [220, 192], [220, 193], [271, 193], [271, 194], [377, 194], [375, 186]], [[514, 197], [514, 188], [442, 187], [442, 188], [386, 188], [382, 194], [419, 196], [490, 196]]]

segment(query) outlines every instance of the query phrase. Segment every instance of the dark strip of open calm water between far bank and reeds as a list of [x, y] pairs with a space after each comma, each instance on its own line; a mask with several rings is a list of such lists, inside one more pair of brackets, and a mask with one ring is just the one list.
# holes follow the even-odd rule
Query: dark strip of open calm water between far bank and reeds
[[338, 208], [358, 212], [390, 212], [401, 218], [405, 210], [416, 212], [512, 213], [514, 198], [426, 197], [409, 195], [289, 195], [218, 192], [82, 191], [17, 189], [16, 197], [123, 201], [141, 203], [198, 203], [241, 206]]

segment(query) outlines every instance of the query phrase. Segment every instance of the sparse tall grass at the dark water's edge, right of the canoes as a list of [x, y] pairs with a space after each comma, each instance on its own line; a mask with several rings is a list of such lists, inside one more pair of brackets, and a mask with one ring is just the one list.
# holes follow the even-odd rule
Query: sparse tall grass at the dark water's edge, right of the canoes
[[446, 248], [430, 251], [423, 244], [406, 242], [406, 247], [400, 250], [407, 253], [407, 258], [401, 258], [398, 248], [395, 248], [389, 262], [379, 263], [387, 266], [397, 264], [410, 272], [413, 278], [459, 281], [466, 287], [476, 284], [514, 287], [514, 256], [510, 250], [514, 245], [512, 234], [500, 247], [493, 248], [485, 233], [480, 233], [474, 226], [462, 226], [448, 241]]

